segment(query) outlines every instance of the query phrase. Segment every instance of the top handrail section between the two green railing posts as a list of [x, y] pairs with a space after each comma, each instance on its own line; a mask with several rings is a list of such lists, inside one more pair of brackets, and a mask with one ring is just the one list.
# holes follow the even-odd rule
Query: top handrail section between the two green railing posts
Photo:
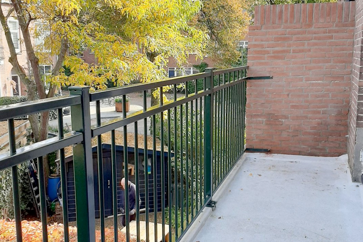
[[192, 81], [192, 80], [200, 79], [200, 78], [204, 78], [204, 77], [210, 77], [210, 76], [211, 76], [211, 73], [202, 72], [202, 73], [198, 73], [198, 74], [186, 75], [183, 77], [172, 77], [172, 78], [168, 78], [168, 79], [165, 79], [162, 81], [136, 83], [136, 84], [131, 84], [131, 85], [122, 86], [122, 87], [108, 88], [106, 90], [99, 90], [99, 91], [95, 91], [94, 93], [90, 93], [90, 102], [97, 101], [97, 100], [104, 99], [104, 98], [126, 95], [126, 94], [134, 93], [137, 91], [144, 91], [144, 90], [150, 90], [150, 89], [154, 89], [154, 88], [158, 88], [158, 87], [162, 87], [162, 86], [179, 84], [179, 83]]

